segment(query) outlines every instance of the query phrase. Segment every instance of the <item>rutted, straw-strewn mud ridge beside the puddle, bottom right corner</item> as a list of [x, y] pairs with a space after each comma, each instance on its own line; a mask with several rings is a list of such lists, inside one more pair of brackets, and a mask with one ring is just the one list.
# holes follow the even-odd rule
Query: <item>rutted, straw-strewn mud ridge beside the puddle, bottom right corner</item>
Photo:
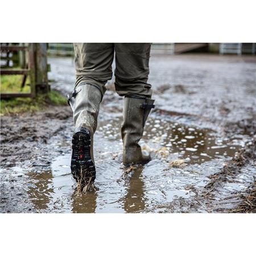
[[[229, 183], [240, 183], [240, 191], [227, 189]], [[179, 198], [170, 204], [159, 205], [158, 212], [220, 212], [220, 213], [255, 213], [256, 212], [256, 138], [241, 148], [231, 160], [225, 163], [220, 171], [210, 175], [210, 180], [203, 189], [188, 186], [196, 195], [189, 199]], [[249, 178], [249, 179], [248, 179]], [[245, 184], [247, 183], [247, 187]], [[227, 195], [225, 193], [228, 191]], [[218, 200], [219, 199], [219, 200]]]

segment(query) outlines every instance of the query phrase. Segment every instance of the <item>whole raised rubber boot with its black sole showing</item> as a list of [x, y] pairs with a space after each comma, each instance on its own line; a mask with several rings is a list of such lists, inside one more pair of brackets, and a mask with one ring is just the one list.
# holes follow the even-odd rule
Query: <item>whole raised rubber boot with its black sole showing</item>
[[76, 86], [69, 97], [73, 110], [75, 131], [72, 138], [71, 172], [80, 191], [94, 188], [96, 178], [93, 158], [93, 134], [97, 127], [97, 117], [102, 96], [100, 90], [90, 84]]

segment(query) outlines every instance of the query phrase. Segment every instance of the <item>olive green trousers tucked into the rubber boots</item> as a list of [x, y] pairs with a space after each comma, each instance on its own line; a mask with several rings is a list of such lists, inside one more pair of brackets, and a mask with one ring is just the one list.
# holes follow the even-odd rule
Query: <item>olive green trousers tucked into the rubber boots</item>
[[93, 84], [101, 91], [112, 79], [115, 56], [115, 90], [119, 96], [151, 98], [149, 74], [150, 43], [74, 43], [76, 84]]

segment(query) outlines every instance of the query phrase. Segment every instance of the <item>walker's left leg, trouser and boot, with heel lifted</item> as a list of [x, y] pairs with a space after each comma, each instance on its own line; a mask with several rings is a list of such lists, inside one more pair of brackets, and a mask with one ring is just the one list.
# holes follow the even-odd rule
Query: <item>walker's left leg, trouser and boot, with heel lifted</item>
[[74, 48], [76, 84], [69, 97], [75, 124], [71, 172], [79, 189], [86, 191], [96, 178], [93, 134], [105, 84], [112, 77], [114, 47], [110, 43], [75, 43]]

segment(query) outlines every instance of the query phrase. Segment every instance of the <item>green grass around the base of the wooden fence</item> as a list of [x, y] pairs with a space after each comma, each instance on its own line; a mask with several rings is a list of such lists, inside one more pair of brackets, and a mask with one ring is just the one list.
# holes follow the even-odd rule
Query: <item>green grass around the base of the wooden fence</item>
[[[20, 76], [22, 79], [22, 76]], [[1, 92], [20, 92], [20, 77], [17, 75], [1, 76]], [[22, 92], [30, 92], [28, 81]], [[47, 94], [39, 94], [36, 98], [12, 98], [1, 100], [0, 113], [2, 115], [23, 112], [36, 112], [46, 109], [48, 106], [67, 105], [67, 99], [56, 90]]]

